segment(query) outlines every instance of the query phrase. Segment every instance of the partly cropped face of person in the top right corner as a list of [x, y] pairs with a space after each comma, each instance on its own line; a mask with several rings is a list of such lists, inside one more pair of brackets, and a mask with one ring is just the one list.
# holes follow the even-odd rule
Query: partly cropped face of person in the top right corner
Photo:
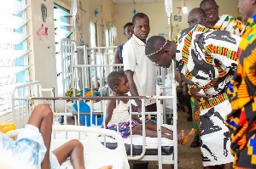
[[246, 22], [256, 14], [256, 0], [238, 0], [237, 8], [239, 8], [241, 19]]

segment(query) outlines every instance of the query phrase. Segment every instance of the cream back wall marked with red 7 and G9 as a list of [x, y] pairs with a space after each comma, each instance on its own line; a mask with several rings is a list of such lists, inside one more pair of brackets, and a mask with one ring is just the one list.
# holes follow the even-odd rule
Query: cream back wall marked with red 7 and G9
[[[216, 0], [219, 6], [219, 14], [230, 14], [235, 17], [237, 14], [237, 1], [236, 0]], [[186, 0], [186, 6], [189, 11], [192, 8], [199, 7], [201, 0]], [[173, 32], [177, 34], [184, 28], [188, 27], [187, 20], [188, 14], [183, 14], [182, 11], [178, 14], [179, 9], [177, 7], [183, 7], [182, 0], [173, 0], [173, 13], [172, 13], [172, 25]], [[159, 33], [168, 34], [168, 20], [166, 15], [165, 3], [127, 3], [127, 4], [115, 4], [115, 23], [118, 31], [118, 45], [126, 42], [126, 37], [123, 34], [123, 26], [126, 22], [131, 21], [132, 12], [136, 9], [136, 12], [142, 12], [148, 15], [150, 20], [150, 34], [158, 35]], [[182, 21], [175, 21], [174, 15], [181, 16]]]

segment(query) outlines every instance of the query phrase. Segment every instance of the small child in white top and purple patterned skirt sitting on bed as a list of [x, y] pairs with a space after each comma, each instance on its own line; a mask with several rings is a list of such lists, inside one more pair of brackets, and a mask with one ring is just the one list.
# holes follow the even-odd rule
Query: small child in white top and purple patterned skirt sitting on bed
[[[128, 79], [124, 72], [113, 71], [108, 75], [108, 86], [113, 90], [110, 96], [125, 96], [129, 92]], [[117, 110], [116, 110], [117, 109]], [[110, 130], [117, 130], [116, 124], [117, 113], [119, 122], [119, 133], [123, 138], [127, 138], [130, 134], [130, 115], [128, 99], [120, 99], [116, 106], [116, 100], [108, 100], [107, 103], [107, 115], [105, 119], [106, 128]], [[103, 124], [102, 124], [103, 127]], [[137, 115], [131, 115], [131, 127], [132, 133], [143, 135], [142, 121]], [[157, 125], [154, 121], [147, 121], [146, 136], [151, 138], [157, 138]], [[161, 135], [163, 138], [173, 139], [173, 132], [166, 127], [161, 127]], [[184, 135], [183, 130], [177, 135], [178, 144], [187, 144], [189, 138], [194, 134], [193, 128], [188, 134]]]

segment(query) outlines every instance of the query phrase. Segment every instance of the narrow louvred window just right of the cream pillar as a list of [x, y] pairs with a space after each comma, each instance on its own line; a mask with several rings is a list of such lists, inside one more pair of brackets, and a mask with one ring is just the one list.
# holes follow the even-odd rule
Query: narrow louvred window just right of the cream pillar
[[72, 14], [68, 13], [66, 8], [62, 8], [58, 4], [54, 4], [54, 20], [55, 20], [55, 55], [57, 70], [58, 95], [63, 93], [62, 86], [62, 68], [61, 68], [61, 39], [69, 38], [72, 31], [69, 28], [73, 25], [68, 24]]

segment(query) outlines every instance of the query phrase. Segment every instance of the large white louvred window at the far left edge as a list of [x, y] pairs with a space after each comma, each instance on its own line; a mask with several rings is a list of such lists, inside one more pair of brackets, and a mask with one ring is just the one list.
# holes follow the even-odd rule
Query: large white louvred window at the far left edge
[[[0, 2], [0, 112], [11, 110], [16, 85], [29, 82], [26, 8], [21, 0]], [[1, 4], [2, 3], [2, 4]]]

